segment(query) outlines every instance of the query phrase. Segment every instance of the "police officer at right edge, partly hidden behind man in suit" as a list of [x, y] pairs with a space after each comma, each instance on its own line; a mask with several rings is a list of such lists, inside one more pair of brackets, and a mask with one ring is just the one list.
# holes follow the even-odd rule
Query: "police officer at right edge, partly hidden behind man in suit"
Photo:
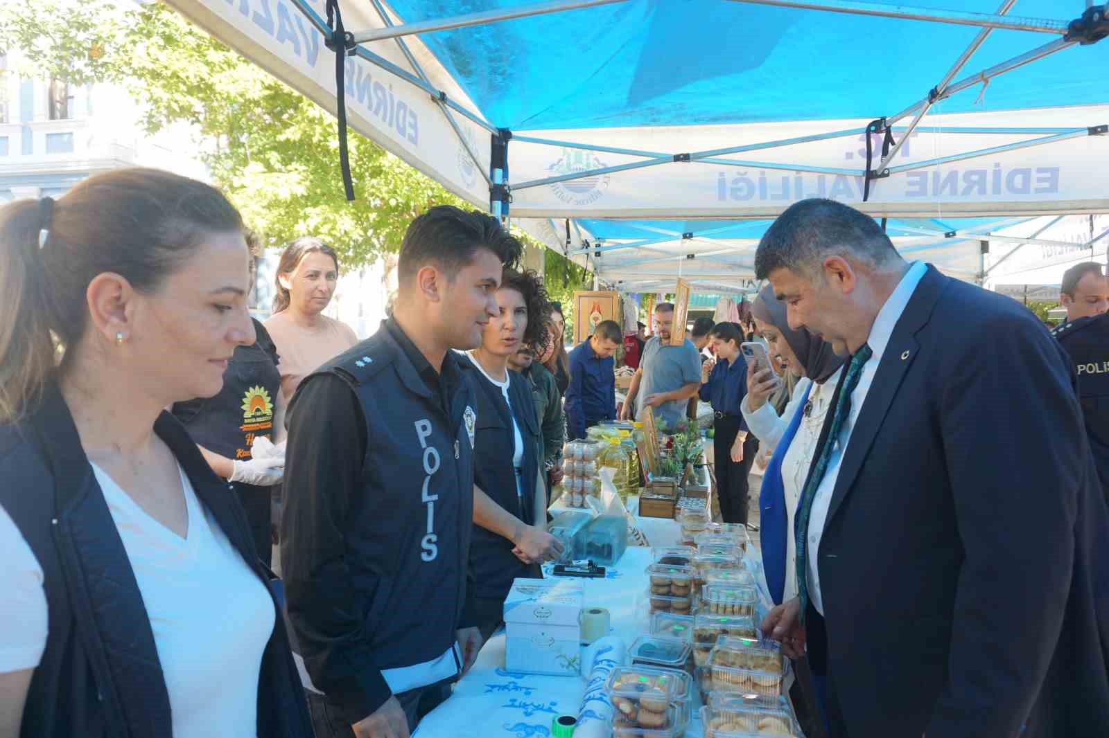
[[1067, 322], [1051, 335], [1070, 355], [1078, 375], [1078, 399], [1098, 475], [1109, 499], [1109, 284], [1101, 265], [1087, 262], [1062, 275]]

